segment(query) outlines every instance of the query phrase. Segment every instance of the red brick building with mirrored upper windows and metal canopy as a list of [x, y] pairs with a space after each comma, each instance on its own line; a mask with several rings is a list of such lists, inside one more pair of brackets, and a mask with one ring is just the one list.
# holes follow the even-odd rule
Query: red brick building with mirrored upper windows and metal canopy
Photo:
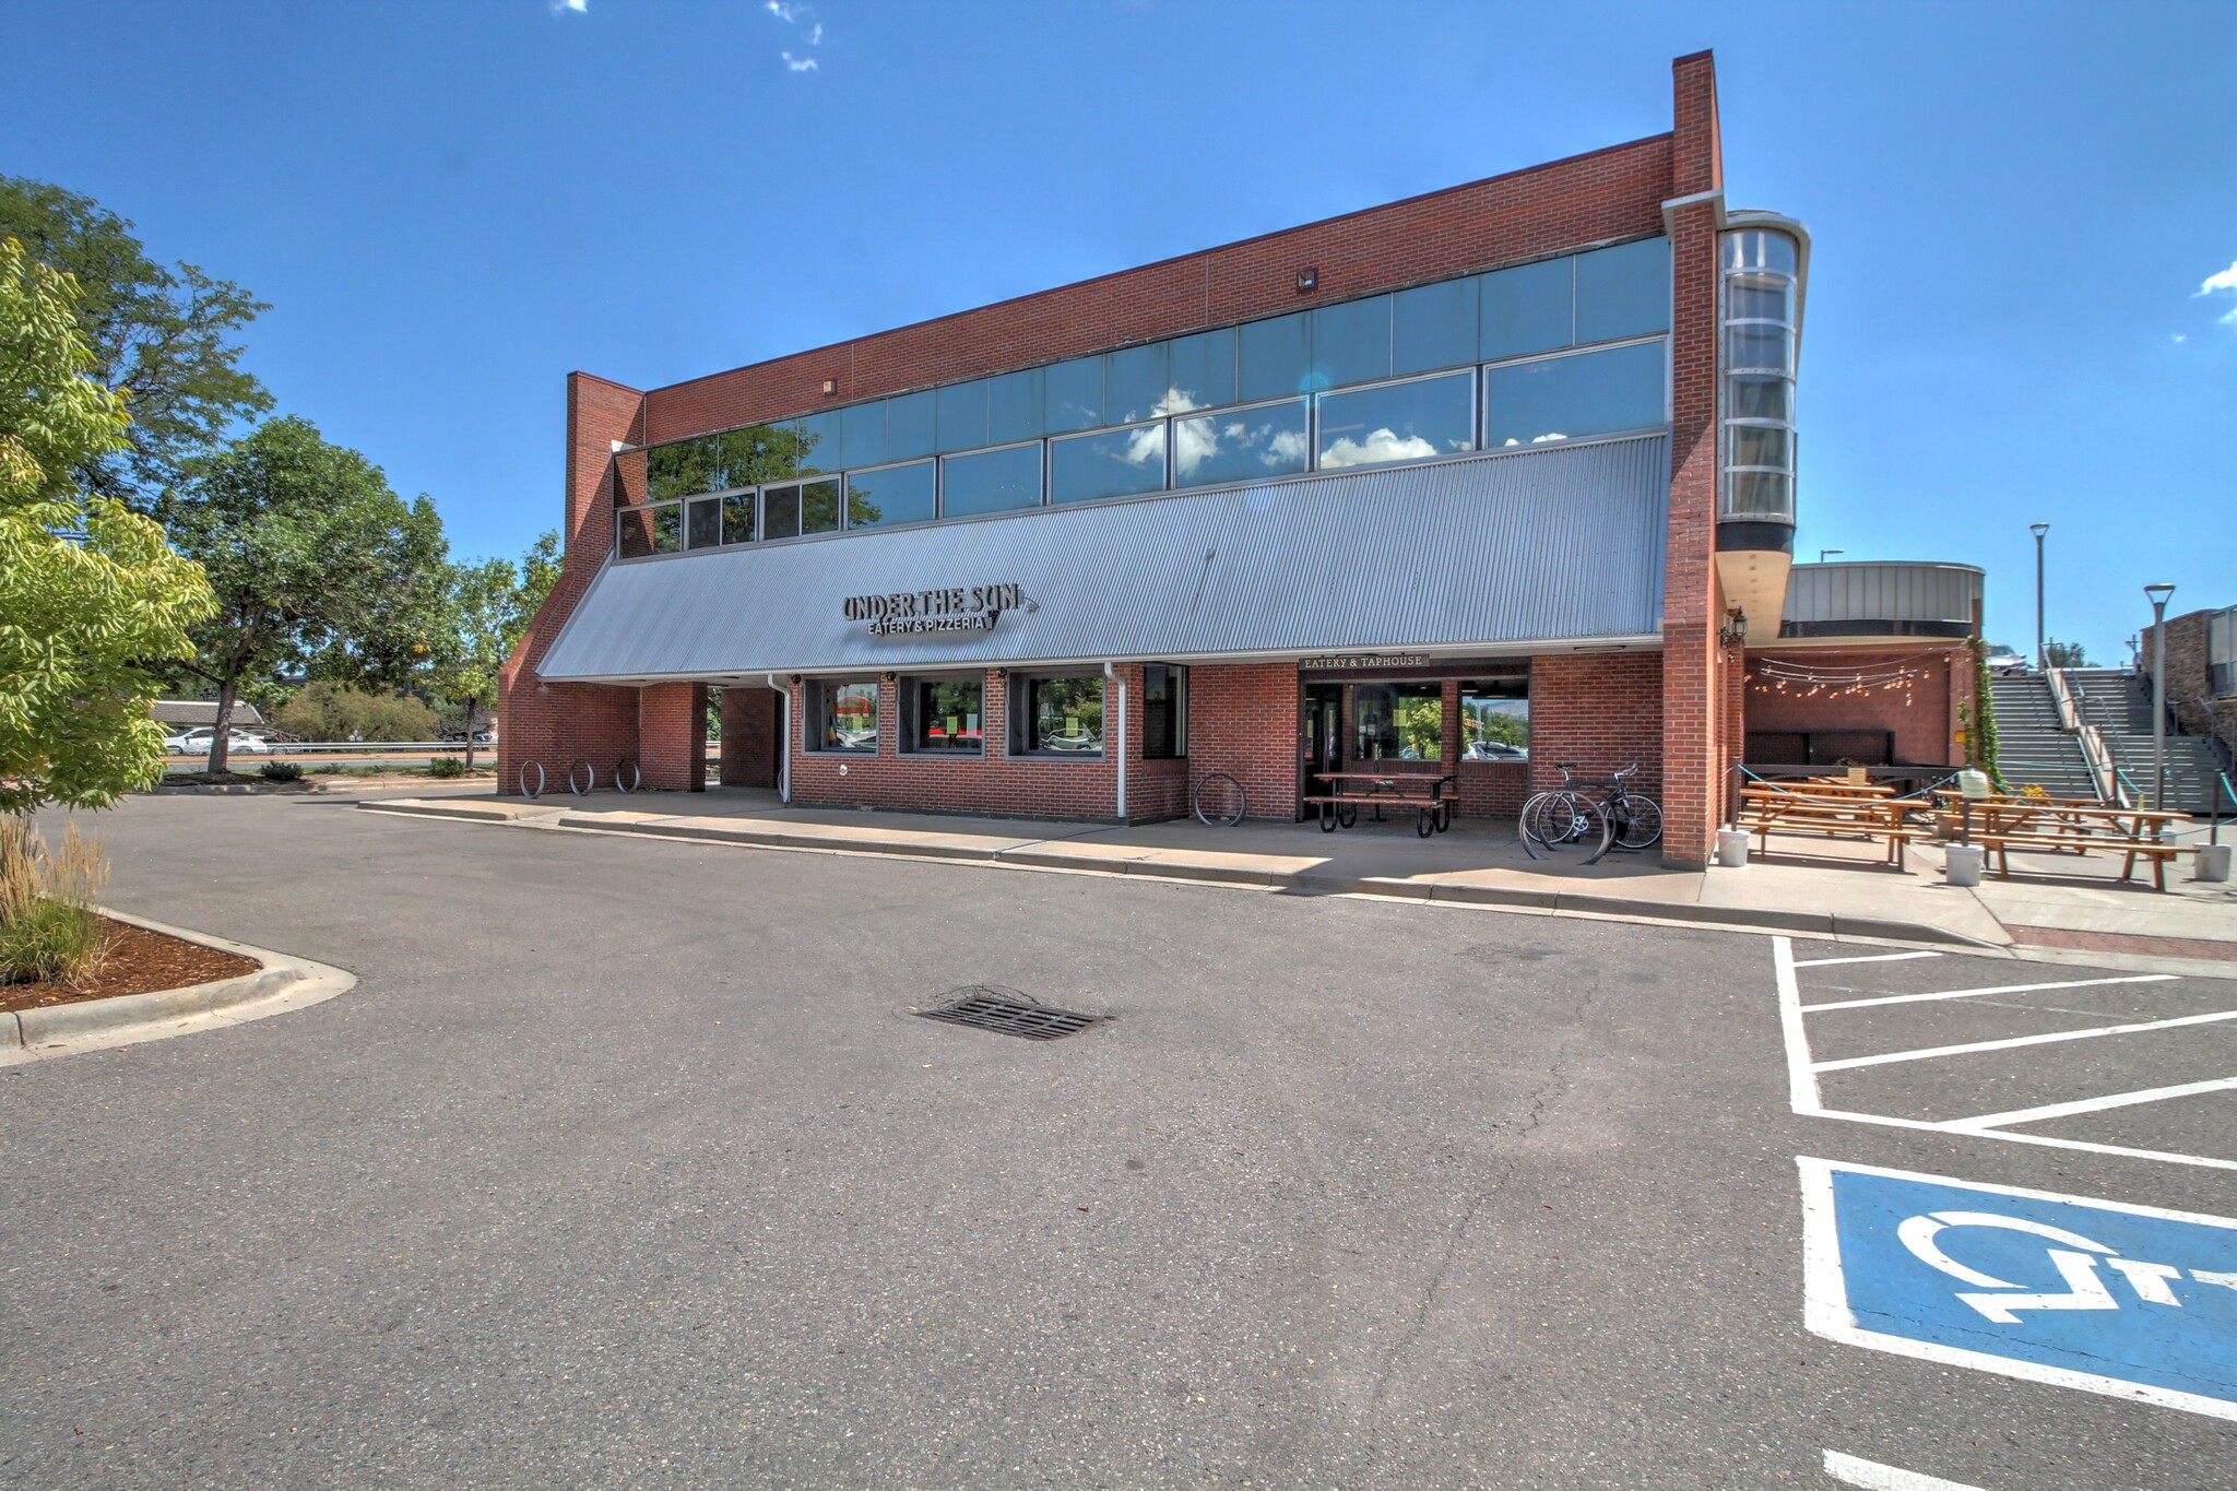
[[837, 346], [568, 380], [503, 787], [1253, 816], [1374, 762], [1512, 814], [1637, 762], [1707, 858], [1778, 635], [1807, 237], [1673, 127]]

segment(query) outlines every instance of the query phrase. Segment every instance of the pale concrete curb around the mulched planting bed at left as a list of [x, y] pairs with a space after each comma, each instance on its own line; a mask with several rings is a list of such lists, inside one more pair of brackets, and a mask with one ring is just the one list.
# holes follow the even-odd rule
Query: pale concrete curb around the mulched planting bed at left
[[268, 948], [251, 948], [226, 937], [190, 932], [145, 917], [96, 908], [112, 921], [163, 932], [179, 941], [237, 952], [262, 963], [257, 972], [186, 988], [163, 988], [148, 995], [116, 995], [58, 1004], [45, 1010], [11, 1010], [0, 1017], [0, 1066], [47, 1062], [58, 1055], [139, 1046], [172, 1035], [239, 1026], [289, 1010], [324, 1004], [349, 993], [358, 975], [311, 959], [289, 957]]

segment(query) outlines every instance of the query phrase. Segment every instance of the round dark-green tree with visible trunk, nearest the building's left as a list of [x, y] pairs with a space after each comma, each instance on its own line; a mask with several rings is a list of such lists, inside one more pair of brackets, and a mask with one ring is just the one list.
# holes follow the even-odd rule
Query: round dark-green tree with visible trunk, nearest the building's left
[[259, 425], [199, 460], [166, 494], [163, 525], [217, 592], [195, 628], [186, 671], [217, 691], [210, 771], [226, 769], [226, 729], [244, 680], [286, 664], [340, 682], [396, 682], [430, 659], [443, 525], [421, 496], [405, 503], [353, 449], [304, 418]]

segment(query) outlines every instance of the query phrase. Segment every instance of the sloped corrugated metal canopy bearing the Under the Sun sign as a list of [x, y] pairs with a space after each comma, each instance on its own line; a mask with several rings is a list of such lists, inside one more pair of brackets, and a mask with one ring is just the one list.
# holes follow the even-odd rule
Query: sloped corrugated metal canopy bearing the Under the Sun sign
[[[608, 563], [537, 675], [720, 680], [1637, 639], [1669, 438]], [[850, 597], [1018, 586], [991, 630], [872, 635]]]

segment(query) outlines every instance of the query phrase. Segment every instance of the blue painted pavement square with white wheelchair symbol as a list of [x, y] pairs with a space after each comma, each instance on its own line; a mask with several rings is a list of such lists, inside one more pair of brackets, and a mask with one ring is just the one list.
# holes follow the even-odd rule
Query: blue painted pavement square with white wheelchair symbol
[[2237, 1419], [2237, 1221], [1799, 1165], [1814, 1335]]

